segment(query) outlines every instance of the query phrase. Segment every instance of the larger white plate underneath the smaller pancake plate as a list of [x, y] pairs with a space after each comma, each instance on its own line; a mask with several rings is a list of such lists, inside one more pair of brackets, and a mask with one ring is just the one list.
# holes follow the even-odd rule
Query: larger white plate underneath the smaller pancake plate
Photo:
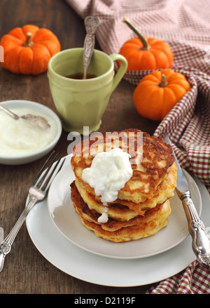
[[[209, 192], [199, 179], [193, 178], [202, 197], [201, 219], [210, 229]], [[46, 199], [29, 212], [26, 224], [35, 247], [52, 265], [92, 284], [113, 287], [153, 284], [172, 277], [195, 261], [190, 236], [176, 247], [148, 258], [117, 259], [92, 254], [59, 232], [50, 219]]]

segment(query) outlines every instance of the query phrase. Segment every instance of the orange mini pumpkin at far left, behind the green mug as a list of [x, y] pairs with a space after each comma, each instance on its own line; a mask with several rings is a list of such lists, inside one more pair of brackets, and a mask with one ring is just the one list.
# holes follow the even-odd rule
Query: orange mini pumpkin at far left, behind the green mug
[[1, 38], [3, 68], [16, 74], [38, 75], [48, 70], [48, 61], [60, 51], [60, 43], [52, 31], [32, 24], [15, 28]]

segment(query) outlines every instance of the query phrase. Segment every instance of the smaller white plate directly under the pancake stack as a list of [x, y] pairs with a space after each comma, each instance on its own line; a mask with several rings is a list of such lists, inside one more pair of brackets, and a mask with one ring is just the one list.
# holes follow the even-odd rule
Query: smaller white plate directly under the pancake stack
[[[50, 186], [48, 211], [59, 232], [73, 244], [93, 254], [109, 258], [146, 258], [172, 249], [189, 235], [186, 214], [175, 193], [175, 196], [170, 199], [172, 213], [169, 217], [169, 224], [156, 235], [122, 243], [97, 237], [93, 231], [83, 226], [74, 210], [70, 188], [74, 174], [71, 170], [70, 160], [71, 156], [66, 159], [64, 168]], [[185, 174], [190, 191], [192, 191], [195, 207], [200, 214], [202, 208], [200, 191], [193, 178], [188, 173], [185, 172]]]

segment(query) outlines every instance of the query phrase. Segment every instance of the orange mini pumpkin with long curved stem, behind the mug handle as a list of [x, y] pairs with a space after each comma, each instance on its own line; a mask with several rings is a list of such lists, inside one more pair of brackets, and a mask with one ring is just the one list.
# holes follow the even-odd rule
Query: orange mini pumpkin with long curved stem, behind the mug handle
[[137, 34], [120, 48], [119, 53], [127, 59], [127, 71], [171, 68], [174, 55], [170, 46], [158, 38], [146, 38], [127, 20], [123, 20]]

